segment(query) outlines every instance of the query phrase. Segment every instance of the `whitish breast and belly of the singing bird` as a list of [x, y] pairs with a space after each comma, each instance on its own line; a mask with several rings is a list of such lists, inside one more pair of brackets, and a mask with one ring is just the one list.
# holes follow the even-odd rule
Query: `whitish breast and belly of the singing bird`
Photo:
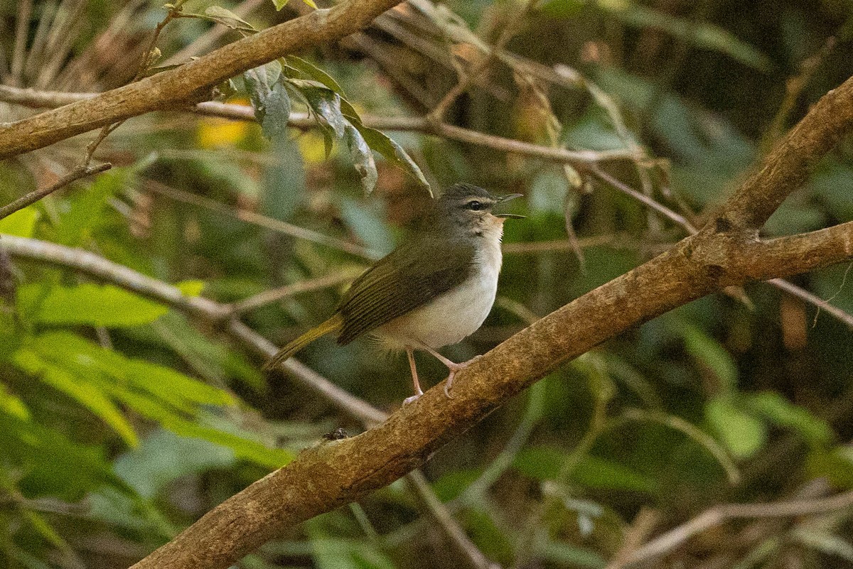
[[500, 242], [479, 250], [471, 275], [456, 288], [393, 319], [377, 330], [389, 348], [426, 343], [441, 348], [461, 342], [477, 330], [495, 303], [497, 277], [501, 272]]

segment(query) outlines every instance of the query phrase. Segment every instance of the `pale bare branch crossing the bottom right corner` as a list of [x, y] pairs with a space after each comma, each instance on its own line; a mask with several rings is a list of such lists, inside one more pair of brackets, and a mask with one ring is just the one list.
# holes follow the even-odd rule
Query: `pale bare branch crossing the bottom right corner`
[[800, 515], [825, 514], [835, 510], [853, 507], [853, 491], [837, 494], [833, 497], [815, 500], [796, 500], [779, 503], [732, 503], [707, 509], [693, 520], [664, 533], [664, 535], [646, 543], [631, 555], [629, 565], [648, 560], [675, 549], [690, 537], [719, 526], [728, 520], [739, 518], [787, 518]]

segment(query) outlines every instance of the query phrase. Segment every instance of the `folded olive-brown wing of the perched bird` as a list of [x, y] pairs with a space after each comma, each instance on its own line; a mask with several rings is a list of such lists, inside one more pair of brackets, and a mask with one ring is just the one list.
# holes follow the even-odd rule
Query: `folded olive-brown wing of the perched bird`
[[456, 287], [473, 270], [474, 248], [446, 239], [415, 239], [356, 279], [340, 302], [338, 342], [346, 344]]

